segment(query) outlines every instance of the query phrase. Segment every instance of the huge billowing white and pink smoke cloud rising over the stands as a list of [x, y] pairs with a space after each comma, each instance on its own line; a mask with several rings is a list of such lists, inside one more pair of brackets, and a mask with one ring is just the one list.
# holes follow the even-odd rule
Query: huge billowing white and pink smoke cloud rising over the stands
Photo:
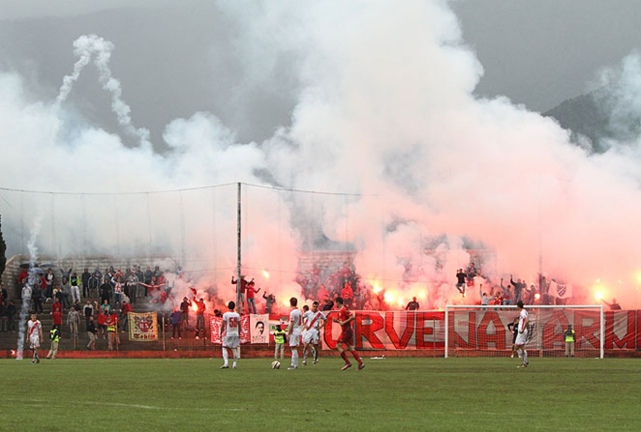
[[[245, 189], [247, 273], [278, 275], [261, 283], [281, 297], [296, 291], [292, 273], [306, 230], [313, 228], [326, 239], [323, 246], [349, 243], [358, 272], [385, 285], [397, 301], [413, 295], [430, 307], [453, 301], [454, 274], [469, 262], [467, 248], [474, 243], [491, 251], [481, 265], [495, 283], [511, 274], [536, 283], [541, 255], [545, 275], [583, 293], [577, 301], [594, 303], [599, 279], [608, 281], [604, 295], [616, 296], [623, 307], [641, 305], [638, 140], [590, 154], [549, 118], [504, 97], [476, 98], [483, 69], [447, 3], [219, 5], [244, 29], [233, 40], [248, 71], [242, 85], [269, 85], [263, 80], [272, 75], [270, 59], [285, 53], [295, 59], [288, 72], [300, 89], [292, 118], [262, 143], [238, 143], [214, 113], [196, 113], [167, 125], [166, 154], [150, 146], [129, 149], [92, 125], [63, 122], [63, 105], [28, 102], [18, 77], [0, 76], [0, 145], [15, 155], [1, 165], [4, 184], [124, 194], [87, 194], [84, 210], [77, 197], [40, 196], [55, 201], [56, 238], [44, 237], [62, 245], [60, 253], [85, 252], [74, 239], [86, 223], [89, 251], [140, 254], [153, 244], [151, 252], [169, 250], [192, 266], [215, 268], [215, 284], [231, 295], [235, 187], [133, 192], [276, 184], [360, 194]], [[119, 84], [103, 73], [113, 45], [97, 36], [79, 40], [79, 60], [58, 99], [66, 99], [97, 53], [101, 83], [121, 100]], [[124, 102], [114, 111], [130, 124]], [[74, 172], [25, 178], [19, 167], [28, 154], [54, 167], [72, 161]], [[113, 161], [124, 166], [114, 169]], [[15, 217], [19, 198], [6, 200]]]

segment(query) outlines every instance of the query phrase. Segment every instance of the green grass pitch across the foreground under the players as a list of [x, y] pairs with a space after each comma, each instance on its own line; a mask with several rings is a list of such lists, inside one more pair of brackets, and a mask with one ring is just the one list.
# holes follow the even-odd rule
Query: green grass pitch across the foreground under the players
[[[641, 361], [0, 360], [9, 431], [638, 431]], [[283, 362], [287, 367], [287, 359]]]

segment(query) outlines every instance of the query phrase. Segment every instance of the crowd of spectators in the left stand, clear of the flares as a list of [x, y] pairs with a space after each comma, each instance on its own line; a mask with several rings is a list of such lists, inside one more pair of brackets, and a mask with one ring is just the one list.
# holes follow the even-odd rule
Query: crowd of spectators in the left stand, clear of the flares
[[[93, 271], [84, 268], [79, 273], [74, 271], [74, 264], [72, 262], [70, 268], [58, 266], [59, 272], [54, 271], [53, 267], [29, 269], [28, 266], [23, 266], [17, 282], [21, 299], [28, 302], [30, 311], [42, 314], [42, 305], [51, 303], [52, 326], [60, 329], [64, 321], [69, 328], [69, 337], [74, 341], [84, 330], [87, 333], [88, 349], [95, 349], [96, 339], [101, 336], [108, 339], [109, 347], [113, 349], [119, 342], [117, 333], [124, 333], [128, 328], [128, 312], [132, 312], [133, 304], [145, 301], [158, 305], [155, 308], [157, 310], [164, 310], [163, 305], [171, 299], [172, 286], [159, 266], [153, 269], [151, 266], [146, 269], [133, 266], [124, 271], [114, 266], [109, 266], [104, 271], [99, 268]], [[176, 279], [183, 277], [184, 274], [178, 267]], [[4, 286], [1, 299], [0, 330], [15, 332], [17, 308], [12, 300], [8, 300]], [[196, 304], [199, 306], [194, 329], [197, 329], [198, 336], [204, 332], [205, 307], [202, 298]], [[188, 307], [191, 305], [189, 302]], [[188, 315], [186, 310], [181, 319], [185, 330], [189, 328]], [[160, 317], [162, 314], [159, 312]], [[171, 319], [169, 314], [167, 319]]]

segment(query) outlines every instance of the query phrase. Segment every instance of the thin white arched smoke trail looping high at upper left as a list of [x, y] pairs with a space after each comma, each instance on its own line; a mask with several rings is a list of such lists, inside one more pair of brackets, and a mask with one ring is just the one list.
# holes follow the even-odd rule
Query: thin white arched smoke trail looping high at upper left
[[56, 107], [67, 100], [74, 83], [78, 81], [81, 72], [93, 58], [100, 83], [103, 84], [104, 90], [112, 95], [112, 111], [115, 113], [118, 123], [127, 134], [137, 138], [140, 145], [149, 145], [149, 130], [143, 127], [137, 128], [131, 124], [131, 108], [122, 100], [121, 83], [112, 77], [109, 61], [113, 48], [112, 42], [97, 35], [82, 35], [74, 41], [74, 54], [78, 57], [78, 61], [74, 65], [72, 74], [63, 78], [60, 93], [56, 97]]

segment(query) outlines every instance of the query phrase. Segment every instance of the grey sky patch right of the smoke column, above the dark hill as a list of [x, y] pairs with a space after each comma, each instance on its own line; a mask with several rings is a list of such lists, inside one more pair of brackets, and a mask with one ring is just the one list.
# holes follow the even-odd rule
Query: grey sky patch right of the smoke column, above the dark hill
[[641, 48], [640, 1], [460, 1], [454, 10], [485, 68], [476, 92], [535, 111], [586, 92], [601, 68]]

